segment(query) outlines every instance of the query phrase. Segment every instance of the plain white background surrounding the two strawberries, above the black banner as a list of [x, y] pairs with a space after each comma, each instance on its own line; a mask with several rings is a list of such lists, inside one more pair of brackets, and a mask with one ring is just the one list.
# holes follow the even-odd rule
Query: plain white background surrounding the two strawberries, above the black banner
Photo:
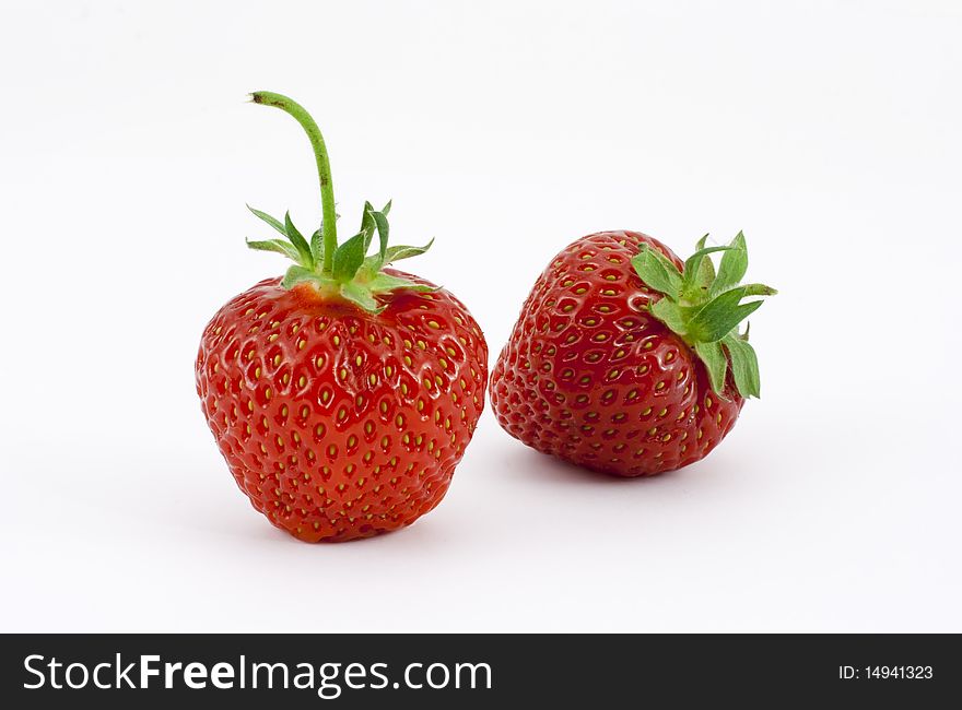
[[[8, 2], [0, 630], [962, 631], [962, 8]], [[441, 507], [307, 545], [237, 490], [200, 331], [280, 273], [245, 201], [394, 198], [492, 363], [551, 257], [744, 229], [763, 399], [617, 481], [485, 411]]]

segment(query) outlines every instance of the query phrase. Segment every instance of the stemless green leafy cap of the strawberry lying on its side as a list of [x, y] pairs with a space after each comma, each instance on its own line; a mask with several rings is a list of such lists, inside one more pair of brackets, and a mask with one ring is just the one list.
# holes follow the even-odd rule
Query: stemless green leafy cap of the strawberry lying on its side
[[[648, 308], [688, 343], [705, 364], [712, 389], [723, 397], [728, 368], [735, 387], [743, 398], [759, 397], [759, 359], [749, 345], [748, 332], [739, 323], [754, 312], [761, 300], [746, 298], [773, 296], [777, 292], [763, 284], [740, 282], [748, 270], [748, 249], [739, 232], [725, 247], [705, 247], [702, 237], [695, 252], [678, 268], [659, 249], [642, 245], [632, 265], [645, 284], [662, 297]], [[722, 252], [717, 272], [711, 255]]]

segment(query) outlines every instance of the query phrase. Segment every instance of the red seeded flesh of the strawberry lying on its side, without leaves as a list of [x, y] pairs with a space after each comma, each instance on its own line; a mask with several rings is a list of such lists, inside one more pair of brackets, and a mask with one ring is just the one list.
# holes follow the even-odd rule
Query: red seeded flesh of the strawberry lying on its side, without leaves
[[601, 232], [561, 251], [525, 301], [491, 377], [501, 426], [538, 451], [619, 476], [704, 458], [744, 403], [731, 374], [723, 397], [680, 335], [655, 318], [661, 294], [632, 267], [637, 232]]

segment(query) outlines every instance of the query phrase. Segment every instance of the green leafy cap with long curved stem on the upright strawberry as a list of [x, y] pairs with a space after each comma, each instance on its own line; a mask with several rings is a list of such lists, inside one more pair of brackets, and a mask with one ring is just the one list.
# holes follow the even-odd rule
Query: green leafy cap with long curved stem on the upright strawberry
[[[343, 244], [338, 244], [338, 215], [335, 213], [330, 162], [317, 123], [304, 107], [286, 96], [255, 92], [250, 98], [255, 104], [273, 106], [290, 114], [307, 133], [317, 162], [322, 221], [320, 228], [314, 232], [309, 240], [294, 226], [290, 213], [281, 222], [248, 205], [281, 238], [259, 241], [248, 239], [247, 246], [259, 251], [284, 255], [294, 262], [281, 281], [281, 286], [292, 288], [302, 283], [313, 284], [324, 297], [340, 297], [371, 312], [384, 309], [376, 298], [380, 294], [398, 288], [433, 291], [429, 286], [383, 271], [391, 262], [424, 253], [434, 241], [432, 239], [423, 247], [389, 246], [387, 215], [390, 212], [390, 202], [382, 210], [375, 210], [369, 202], [365, 202], [360, 230]], [[375, 235], [378, 237], [377, 250], [367, 256]]]

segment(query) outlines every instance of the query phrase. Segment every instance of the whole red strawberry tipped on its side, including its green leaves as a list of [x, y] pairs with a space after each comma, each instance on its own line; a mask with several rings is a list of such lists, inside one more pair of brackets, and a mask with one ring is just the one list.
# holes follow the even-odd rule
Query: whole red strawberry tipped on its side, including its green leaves
[[775, 291], [740, 285], [747, 267], [741, 233], [725, 247], [703, 237], [683, 263], [637, 232], [573, 242], [536, 282], [492, 372], [501, 426], [619, 476], [704, 458], [744, 398], [759, 395], [755, 353], [738, 324], [761, 305], [743, 298]]

